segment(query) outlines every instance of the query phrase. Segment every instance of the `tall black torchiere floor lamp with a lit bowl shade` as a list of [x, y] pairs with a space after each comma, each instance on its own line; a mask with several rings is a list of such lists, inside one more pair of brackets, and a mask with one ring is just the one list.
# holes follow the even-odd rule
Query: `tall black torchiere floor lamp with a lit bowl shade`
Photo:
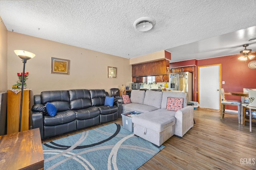
[[36, 56], [33, 53], [30, 53], [28, 51], [24, 51], [24, 50], [14, 50], [14, 53], [16, 53], [16, 55], [18, 55], [18, 57], [20, 57], [22, 59], [22, 63], [23, 63], [23, 71], [22, 71], [22, 85], [21, 85], [21, 97], [20, 97], [20, 124], [19, 124], [19, 132], [21, 129], [21, 117], [22, 117], [22, 101], [23, 101], [23, 88], [24, 88], [24, 73], [25, 73], [25, 64], [27, 62], [28, 59], [33, 58], [34, 56]]

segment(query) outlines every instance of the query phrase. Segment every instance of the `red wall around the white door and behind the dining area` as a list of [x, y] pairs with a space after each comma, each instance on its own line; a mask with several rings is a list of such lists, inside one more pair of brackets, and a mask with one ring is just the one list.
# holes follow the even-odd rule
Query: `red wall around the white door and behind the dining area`
[[[256, 52], [253, 52], [252, 55], [256, 56]], [[250, 69], [248, 67], [248, 63], [252, 60], [256, 60], [256, 58], [248, 61], [240, 61], [238, 60], [239, 56], [240, 55], [236, 54], [209, 59], [180, 61], [170, 63], [170, 68], [184, 67], [187, 65], [204, 66], [221, 64], [221, 82], [225, 81], [225, 84], [221, 85], [221, 87], [224, 89], [225, 93], [243, 91], [243, 88], [256, 89], [256, 69]], [[196, 73], [197, 72], [198, 70], [196, 70]], [[197, 74], [196, 82], [198, 82]], [[196, 91], [198, 92], [198, 85], [196, 85]], [[225, 95], [225, 97], [227, 100], [241, 100], [241, 97], [234, 95]], [[198, 96], [196, 99], [198, 101]], [[237, 110], [237, 107], [227, 106], [226, 109]]]

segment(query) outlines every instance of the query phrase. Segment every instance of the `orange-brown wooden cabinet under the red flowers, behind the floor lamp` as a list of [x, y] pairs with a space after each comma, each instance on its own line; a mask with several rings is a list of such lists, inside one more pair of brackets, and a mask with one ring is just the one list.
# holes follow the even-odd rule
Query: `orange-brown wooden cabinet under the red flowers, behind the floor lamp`
[[[7, 134], [19, 131], [20, 123], [20, 97], [19, 93], [7, 91]], [[30, 90], [23, 91], [21, 131], [28, 130], [30, 126]]]

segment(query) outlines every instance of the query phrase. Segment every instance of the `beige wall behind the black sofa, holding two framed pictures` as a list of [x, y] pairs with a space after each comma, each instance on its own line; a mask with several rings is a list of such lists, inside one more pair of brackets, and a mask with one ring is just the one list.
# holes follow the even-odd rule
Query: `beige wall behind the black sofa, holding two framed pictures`
[[[15, 49], [36, 55], [27, 61], [25, 69], [29, 72], [26, 84], [32, 89], [31, 96], [48, 90], [105, 89], [109, 92], [110, 88], [120, 89], [122, 84], [132, 83], [129, 59], [8, 31], [8, 88], [15, 84], [17, 73], [23, 68]], [[51, 74], [51, 57], [69, 59], [70, 75]], [[107, 77], [108, 66], [117, 67], [117, 78]]]

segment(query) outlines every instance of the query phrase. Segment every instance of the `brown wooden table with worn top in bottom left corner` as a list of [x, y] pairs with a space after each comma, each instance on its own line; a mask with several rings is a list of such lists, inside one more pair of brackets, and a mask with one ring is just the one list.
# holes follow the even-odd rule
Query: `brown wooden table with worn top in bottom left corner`
[[0, 136], [0, 169], [44, 169], [39, 128]]

